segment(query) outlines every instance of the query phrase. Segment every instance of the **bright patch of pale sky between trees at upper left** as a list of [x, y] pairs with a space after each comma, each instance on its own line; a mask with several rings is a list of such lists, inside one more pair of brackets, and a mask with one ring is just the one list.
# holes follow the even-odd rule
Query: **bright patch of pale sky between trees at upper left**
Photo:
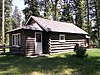
[[[13, 11], [14, 11], [14, 8], [15, 6], [18, 6], [18, 9], [19, 11], [21, 11], [21, 14], [22, 14], [22, 10], [25, 8], [25, 5], [24, 5], [24, 0], [13, 0]], [[12, 11], [12, 13], [13, 13]], [[22, 17], [24, 17], [24, 15], [22, 14]]]

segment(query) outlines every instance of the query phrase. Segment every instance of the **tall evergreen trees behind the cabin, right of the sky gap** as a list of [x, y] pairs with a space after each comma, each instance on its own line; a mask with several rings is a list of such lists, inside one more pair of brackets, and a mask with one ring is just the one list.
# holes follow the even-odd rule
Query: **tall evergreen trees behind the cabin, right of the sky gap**
[[[73, 20], [71, 5], [70, 3], [69, 4], [66, 3], [65, 2], [66, 0], [55, 0], [55, 3], [54, 0], [39, 0], [39, 1], [44, 1], [43, 3], [44, 16], [42, 16], [43, 18], [47, 18], [47, 19], [53, 18], [53, 20], [74, 23], [78, 27], [88, 32], [92, 41], [98, 40], [98, 37], [100, 36], [99, 33], [100, 0], [73, 0], [75, 4], [75, 12], [76, 12], [74, 14], [75, 20]], [[60, 3], [61, 1], [64, 2], [64, 4]], [[87, 1], [89, 7], [87, 6]], [[28, 0], [27, 4], [28, 7], [26, 7], [23, 10], [26, 21], [30, 17], [30, 15], [40, 16], [39, 10], [42, 8], [38, 7], [38, 0]], [[58, 9], [59, 5], [61, 6], [61, 9], [64, 10], [62, 14]], [[87, 14], [88, 9], [89, 9], [89, 14]], [[96, 24], [94, 26], [95, 30], [97, 30], [96, 34], [95, 31], [92, 31], [92, 24], [91, 24], [92, 20], [96, 21]]]

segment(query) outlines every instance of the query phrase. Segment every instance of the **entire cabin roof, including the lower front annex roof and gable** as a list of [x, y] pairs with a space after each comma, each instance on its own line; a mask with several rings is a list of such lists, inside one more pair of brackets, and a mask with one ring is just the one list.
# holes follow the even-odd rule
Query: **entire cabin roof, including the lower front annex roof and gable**
[[[31, 20], [34, 20], [35, 23], [32, 25], [27, 25]], [[26, 26], [11, 30], [16, 31], [19, 29], [30, 29], [30, 30], [39, 30], [39, 31], [46, 31], [46, 32], [64, 32], [64, 33], [75, 33], [75, 34], [88, 34], [84, 30], [80, 29], [76, 25], [72, 23], [66, 23], [66, 22], [58, 22], [58, 21], [51, 21], [48, 19], [43, 19], [35, 16], [31, 16], [27, 23]]]

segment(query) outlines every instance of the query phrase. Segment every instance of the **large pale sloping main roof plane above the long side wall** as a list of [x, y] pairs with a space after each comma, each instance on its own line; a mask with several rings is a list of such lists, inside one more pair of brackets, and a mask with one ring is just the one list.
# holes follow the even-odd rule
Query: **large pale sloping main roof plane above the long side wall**
[[43, 19], [35, 16], [31, 16], [31, 18], [33, 18], [46, 31], [88, 34], [87, 32], [85, 32], [84, 30], [80, 29], [72, 23], [51, 21], [48, 19]]

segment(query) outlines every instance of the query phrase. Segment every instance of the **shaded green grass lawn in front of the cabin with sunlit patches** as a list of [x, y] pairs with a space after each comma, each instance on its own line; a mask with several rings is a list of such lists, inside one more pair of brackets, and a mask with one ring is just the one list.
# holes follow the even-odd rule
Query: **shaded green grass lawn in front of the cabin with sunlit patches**
[[73, 52], [28, 58], [0, 55], [0, 75], [100, 75], [100, 49], [78, 58]]

